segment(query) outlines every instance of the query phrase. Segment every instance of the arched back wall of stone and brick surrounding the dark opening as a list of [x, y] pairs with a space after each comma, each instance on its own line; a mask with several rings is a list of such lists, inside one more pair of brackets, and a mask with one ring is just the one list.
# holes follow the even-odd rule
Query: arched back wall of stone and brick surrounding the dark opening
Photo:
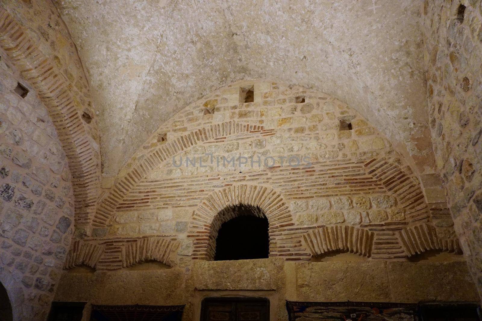
[[187, 106], [104, 181], [95, 237], [75, 241], [66, 267], [189, 269], [213, 259], [235, 205], [268, 218], [271, 257], [461, 253], [440, 179], [407, 157], [333, 97], [240, 81]]

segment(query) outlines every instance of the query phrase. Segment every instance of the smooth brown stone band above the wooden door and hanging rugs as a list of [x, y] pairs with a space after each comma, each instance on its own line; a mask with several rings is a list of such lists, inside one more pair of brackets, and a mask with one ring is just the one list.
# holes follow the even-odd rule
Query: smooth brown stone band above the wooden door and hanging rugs
[[90, 320], [91, 304], [186, 305], [183, 320], [195, 321], [200, 320], [204, 297], [223, 296], [267, 297], [272, 321], [288, 320], [285, 300], [401, 303], [478, 300], [464, 261], [348, 259], [300, 263], [274, 257], [197, 261], [189, 274], [180, 268], [72, 270], [63, 275], [54, 299], [87, 302], [82, 321]]

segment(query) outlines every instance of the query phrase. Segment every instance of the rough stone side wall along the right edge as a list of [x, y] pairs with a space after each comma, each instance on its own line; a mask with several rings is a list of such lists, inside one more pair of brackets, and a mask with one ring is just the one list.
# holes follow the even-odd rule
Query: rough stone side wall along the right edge
[[[482, 291], [482, 5], [424, 2], [432, 141], [455, 229]], [[482, 292], [480, 292], [482, 294]]]

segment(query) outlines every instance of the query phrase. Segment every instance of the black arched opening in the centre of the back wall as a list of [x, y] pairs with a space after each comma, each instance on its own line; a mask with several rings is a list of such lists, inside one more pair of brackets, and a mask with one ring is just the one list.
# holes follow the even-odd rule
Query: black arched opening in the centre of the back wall
[[267, 258], [268, 254], [268, 218], [240, 216], [221, 225], [215, 261]]

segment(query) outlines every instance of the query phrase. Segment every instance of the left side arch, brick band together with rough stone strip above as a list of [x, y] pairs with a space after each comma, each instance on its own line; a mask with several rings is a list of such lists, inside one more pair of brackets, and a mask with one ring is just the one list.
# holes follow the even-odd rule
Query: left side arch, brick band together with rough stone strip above
[[2, 1], [0, 48], [47, 108], [72, 173], [77, 225], [88, 225], [100, 186], [97, 117], [75, 44], [52, 1]]

